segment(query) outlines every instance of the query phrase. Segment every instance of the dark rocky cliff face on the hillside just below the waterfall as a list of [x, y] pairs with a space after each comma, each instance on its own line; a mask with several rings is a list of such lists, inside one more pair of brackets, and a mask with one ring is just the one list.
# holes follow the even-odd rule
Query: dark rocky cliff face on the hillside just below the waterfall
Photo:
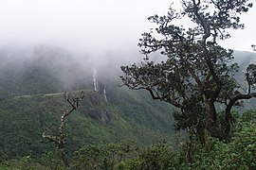
[[108, 110], [108, 103], [104, 95], [98, 92], [85, 95], [81, 105], [80, 110], [87, 117], [101, 123], [101, 125], [108, 124], [111, 113]]

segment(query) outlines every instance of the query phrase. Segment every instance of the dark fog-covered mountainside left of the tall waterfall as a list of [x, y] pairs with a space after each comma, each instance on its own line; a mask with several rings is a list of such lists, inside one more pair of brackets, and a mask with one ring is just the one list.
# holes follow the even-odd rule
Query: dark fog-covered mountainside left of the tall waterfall
[[0, 93], [64, 92], [71, 90], [71, 86], [75, 88], [80, 79], [86, 79], [79, 61], [55, 47], [37, 47], [20, 53], [0, 51], [0, 58]]

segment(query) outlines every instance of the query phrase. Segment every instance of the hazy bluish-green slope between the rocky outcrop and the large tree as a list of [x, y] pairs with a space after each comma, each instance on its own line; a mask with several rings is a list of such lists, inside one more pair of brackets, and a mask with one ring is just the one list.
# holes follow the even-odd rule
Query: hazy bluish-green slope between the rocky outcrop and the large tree
[[174, 107], [168, 103], [153, 100], [145, 91], [132, 91], [116, 86], [107, 88], [108, 100], [113, 106], [119, 108], [125, 117], [145, 127], [166, 133], [174, 132], [172, 115]]

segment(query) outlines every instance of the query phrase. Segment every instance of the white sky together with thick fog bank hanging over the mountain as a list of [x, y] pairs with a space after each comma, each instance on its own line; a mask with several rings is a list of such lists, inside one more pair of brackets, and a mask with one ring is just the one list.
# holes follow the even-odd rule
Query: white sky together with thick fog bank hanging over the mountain
[[[68, 63], [76, 75], [92, 67], [119, 75], [120, 65], [143, 58], [138, 39], [155, 26], [147, 18], [166, 14], [172, 2], [178, 7], [176, 0], [0, 0], [1, 69], [13, 61], [17, 70], [41, 62], [64, 70]], [[221, 44], [251, 51], [254, 16], [255, 6], [242, 16], [246, 28], [230, 31], [232, 38]]]

